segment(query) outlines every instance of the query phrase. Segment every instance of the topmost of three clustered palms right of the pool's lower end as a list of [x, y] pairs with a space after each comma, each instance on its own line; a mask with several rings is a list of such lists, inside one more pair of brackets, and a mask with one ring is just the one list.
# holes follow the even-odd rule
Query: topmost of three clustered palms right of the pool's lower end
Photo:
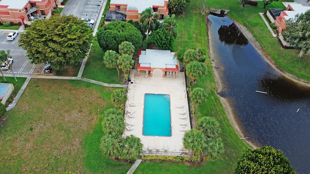
[[202, 131], [206, 138], [217, 138], [218, 133], [221, 131], [217, 119], [210, 116], [199, 119], [196, 128]]

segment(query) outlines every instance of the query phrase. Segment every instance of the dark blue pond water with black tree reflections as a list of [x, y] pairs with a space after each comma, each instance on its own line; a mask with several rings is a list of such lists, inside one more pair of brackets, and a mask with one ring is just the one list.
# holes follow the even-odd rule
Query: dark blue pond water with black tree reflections
[[310, 88], [275, 71], [229, 18], [209, 19], [220, 95], [229, 100], [245, 136], [281, 149], [298, 174], [310, 174]]

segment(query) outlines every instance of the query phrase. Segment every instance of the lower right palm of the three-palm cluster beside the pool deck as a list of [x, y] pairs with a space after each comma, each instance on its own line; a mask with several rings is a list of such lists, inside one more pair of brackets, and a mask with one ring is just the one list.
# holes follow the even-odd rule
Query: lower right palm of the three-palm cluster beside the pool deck
[[202, 148], [200, 161], [203, 161], [204, 156], [209, 158], [217, 158], [224, 152], [224, 145], [220, 138], [207, 138], [206, 145]]

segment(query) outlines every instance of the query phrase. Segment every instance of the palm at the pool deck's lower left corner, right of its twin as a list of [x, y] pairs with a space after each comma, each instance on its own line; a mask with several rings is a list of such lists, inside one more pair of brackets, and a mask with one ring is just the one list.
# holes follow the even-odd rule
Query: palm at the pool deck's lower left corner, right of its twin
[[140, 138], [135, 137], [134, 135], [126, 136], [123, 139], [124, 149], [123, 149], [123, 158], [130, 160], [131, 163], [134, 163], [142, 153], [142, 143]]

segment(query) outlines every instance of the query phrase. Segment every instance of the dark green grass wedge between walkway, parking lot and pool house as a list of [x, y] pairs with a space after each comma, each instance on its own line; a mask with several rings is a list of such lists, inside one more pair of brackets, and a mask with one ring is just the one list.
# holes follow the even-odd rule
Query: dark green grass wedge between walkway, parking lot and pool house
[[95, 40], [87, 59], [82, 77], [109, 84], [121, 84], [123, 78], [122, 70], [120, 70], [120, 79], [118, 79], [116, 68], [106, 68], [106, 65], [103, 64], [103, 56], [104, 51], [102, 51], [97, 40]]

